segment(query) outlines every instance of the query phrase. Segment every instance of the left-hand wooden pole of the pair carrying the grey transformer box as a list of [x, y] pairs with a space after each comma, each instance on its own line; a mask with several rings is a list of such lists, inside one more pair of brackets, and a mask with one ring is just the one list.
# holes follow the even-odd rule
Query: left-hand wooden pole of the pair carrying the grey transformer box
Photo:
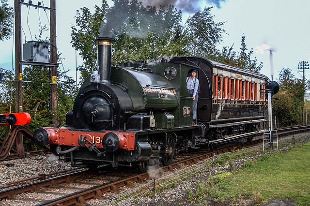
[[22, 92], [22, 65], [21, 61], [21, 15], [19, 0], [14, 1], [15, 9], [15, 87], [16, 104], [15, 111], [23, 112], [23, 92]]

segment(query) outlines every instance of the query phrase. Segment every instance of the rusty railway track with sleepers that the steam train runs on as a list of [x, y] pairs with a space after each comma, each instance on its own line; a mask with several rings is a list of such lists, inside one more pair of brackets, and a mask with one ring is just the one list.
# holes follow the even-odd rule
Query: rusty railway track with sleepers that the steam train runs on
[[[296, 133], [309, 132], [310, 127], [294, 127], [278, 130], [278, 137], [292, 135]], [[257, 132], [262, 135], [263, 132]], [[245, 147], [245, 145], [261, 144], [262, 137], [255, 138], [252, 142], [243, 142], [231, 147], [223, 147], [210, 152], [207, 149], [196, 150], [179, 155], [176, 161], [169, 166], [161, 168], [162, 172], [178, 169], [181, 165], [190, 165], [204, 159], [208, 159], [215, 154], [224, 153], [236, 149], [236, 147]], [[46, 179], [37, 182], [24, 184], [14, 188], [0, 191], [0, 199], [12, 201], [25, 201], [31, 205], [87, 205], [87, 200], [96, 198], [104, 199], [105, 194], [118, 193], [124, 186], [130, 186], [132, 183], [149, 181], [148, 173], [134, 174], [114, 171], [106, 167], [93, 172], [90, 170], [73, 172], [59, 177], [44, 177]], [[28, 193], [25, 193], [28, 192]], [[47, 198], [47, 194], [50, 196]], [[35, 197], [35, 198], [34, 198]], [[0, 204], [3, 204], [0, 202]], [[25, 204], [27, 205], [27, 204]]]

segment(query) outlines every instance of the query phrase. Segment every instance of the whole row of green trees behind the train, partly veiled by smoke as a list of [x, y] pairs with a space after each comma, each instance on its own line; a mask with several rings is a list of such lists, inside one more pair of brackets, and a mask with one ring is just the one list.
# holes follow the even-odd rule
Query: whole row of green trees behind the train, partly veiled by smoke
[[162, 56], [200, 56], [232, 66], [259, 72], [262, 63], [251, 60], [253, 49], [248, 53], [245, 36], [241, 39], [241, 52], [233, 46], [217, 49], [225, 30], [224, 22], [215, 22], [212, 7], [197, 11], [182, 26], [182, 13], [173, 5], [143, 6], [138, 0], [114, 0], [109, 8], [105, 0], [95, 6], [92, 14], [88, 8], [77, 11], [77, 26], [72, 27], [72, 44], [84, 59], [78, 66], [84, 80], [96, 67], [96, 41], [99, 36], [114, 38], [112, 65], [126, 61], [156, 59]]

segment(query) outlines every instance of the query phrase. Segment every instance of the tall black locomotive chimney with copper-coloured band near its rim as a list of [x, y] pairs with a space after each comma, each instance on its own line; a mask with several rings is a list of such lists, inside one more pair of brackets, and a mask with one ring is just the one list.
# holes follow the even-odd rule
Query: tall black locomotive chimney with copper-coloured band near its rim
[[112, 53], [112, 38], [99, 37], [98, 41], [98, 67], [100, 75], [100, 83], [109, 84], [111, 75], [111, 53]]

